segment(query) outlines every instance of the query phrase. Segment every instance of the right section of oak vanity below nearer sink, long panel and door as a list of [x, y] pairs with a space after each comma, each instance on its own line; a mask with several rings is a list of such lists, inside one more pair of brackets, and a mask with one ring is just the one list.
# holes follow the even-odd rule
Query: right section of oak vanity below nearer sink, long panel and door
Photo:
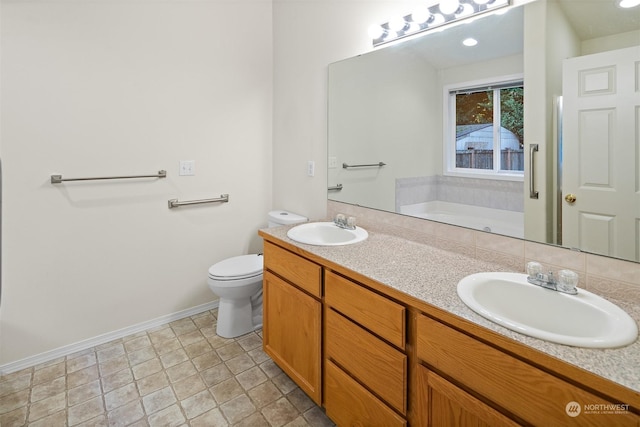
[[[632, 412], [575, 415], [575, 404], [616, 404], [425, 315], [417, 318], [416, 352], [426, 425], [635, 426]], [[436, 375], [434, 372], [437, 372]], [[446, 377], [446, 379], [445, 379]], [[624, 402], [623, 402], [624, 403]], [[571, 406], [574, 405], [574, 408]], [[570, 409], [567, 409], [570, 408]], [[503, 417], [503, 418], [502, 418]]]

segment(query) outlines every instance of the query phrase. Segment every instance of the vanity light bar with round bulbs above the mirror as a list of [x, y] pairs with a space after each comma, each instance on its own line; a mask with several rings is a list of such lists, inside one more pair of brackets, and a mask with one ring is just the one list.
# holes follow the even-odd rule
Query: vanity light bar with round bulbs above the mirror
[[[640, 0], [621, 0], [640, 1]], [[441, 0], [439, 4], [424, 7], [402, 18], [392, 19], [369, 28], [373, 46], [380, 46], [404, 37], [429, 31], [455, 21], [477, 16], [508, 6], [511, 0]]]

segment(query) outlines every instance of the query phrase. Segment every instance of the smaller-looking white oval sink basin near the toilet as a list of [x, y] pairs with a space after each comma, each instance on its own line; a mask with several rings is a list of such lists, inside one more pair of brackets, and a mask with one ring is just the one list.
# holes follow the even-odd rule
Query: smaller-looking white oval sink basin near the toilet
[[369, 233], [363, 228], [346, 230], [333, 222], [308, 222], [296, 225], [287, 236], [296, 242], [317, 246], [341, 246], [362, 242], [369, 237]]

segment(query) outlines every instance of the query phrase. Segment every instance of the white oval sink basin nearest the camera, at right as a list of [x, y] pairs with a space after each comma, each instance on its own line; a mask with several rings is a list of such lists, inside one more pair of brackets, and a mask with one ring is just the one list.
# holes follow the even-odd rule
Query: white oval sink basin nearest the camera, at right
[[473, 311], [525, 335], [575, 347], [614, 348], [638, 336], [620, 307], [591, 292], [569, 295], [527, 282], [526, 274], [478, 273], [458, 283]]

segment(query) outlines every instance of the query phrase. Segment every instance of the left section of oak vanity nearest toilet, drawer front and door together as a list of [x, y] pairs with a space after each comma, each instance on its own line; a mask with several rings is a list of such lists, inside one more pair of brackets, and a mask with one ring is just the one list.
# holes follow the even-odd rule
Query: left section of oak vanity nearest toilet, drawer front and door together
[[321, 405], [322, 268], [269, 242], [264, 257], [264, 351]]

